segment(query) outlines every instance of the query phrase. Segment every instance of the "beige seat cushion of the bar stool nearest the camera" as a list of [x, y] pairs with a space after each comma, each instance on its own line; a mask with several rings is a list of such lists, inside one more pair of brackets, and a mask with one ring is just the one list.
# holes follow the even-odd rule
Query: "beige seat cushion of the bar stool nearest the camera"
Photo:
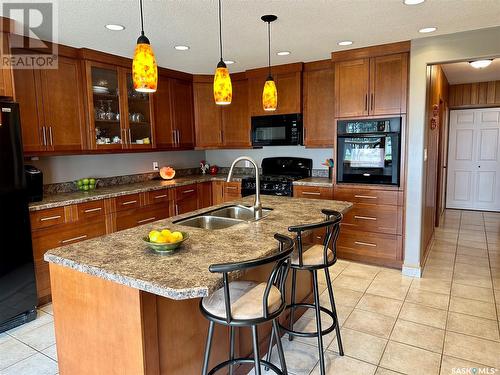
[[[264, 317], [264, 292], [266, 283], [253, 281], [233, 281], [229, 283], [231, 315], [233, 319], [258, 319]], [[226, 319], [224, 288], [218, 289], [212, 295], [203, 298], [203, 308], [210, 314]], [[275, 286], [271, 287], [267, 299], [269, 314], [281, 306], [281, 293]]]

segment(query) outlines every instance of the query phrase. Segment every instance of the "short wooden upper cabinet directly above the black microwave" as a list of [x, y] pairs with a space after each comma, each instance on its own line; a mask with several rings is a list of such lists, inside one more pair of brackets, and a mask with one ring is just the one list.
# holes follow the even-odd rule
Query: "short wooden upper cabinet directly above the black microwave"
[[278, 90], [278, 108], [268, 112], [262, 108], [262, 90], [268, 68], [248, 70], [248, 109], [250, 116], [302, 113], [302, 63], [278, 65], [272, 75]]

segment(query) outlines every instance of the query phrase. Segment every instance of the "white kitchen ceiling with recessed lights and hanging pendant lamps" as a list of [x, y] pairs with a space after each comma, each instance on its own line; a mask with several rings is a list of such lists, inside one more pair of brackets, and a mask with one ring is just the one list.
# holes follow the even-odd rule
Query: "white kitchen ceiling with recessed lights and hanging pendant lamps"
[[[4, 2], [17, 2], [7, 0]], [[139, 0], [53, 0], [58, 4], [59, 43], [131, 57], [139, 36]], [[272, 63], [313, 61], [330, 52], [500, 25], [498, 0], [224, 0], [224, 57], [231, 71], [265, 66], [267, 31], [272, 25]], [[219, 60], [216, 0], [144, 0], [146, 35], [158, 64], [190, 73], [212, 73]], [[105, 24], [122, 24], [113, 32]], [[431, 34], [419, 29], [436, 26]], [[352, 40], [350, 47], [338, 41]], [[184, 44], [189, 51], [176, 51]], [[289, 56], [276, 56], [289, 50]]]

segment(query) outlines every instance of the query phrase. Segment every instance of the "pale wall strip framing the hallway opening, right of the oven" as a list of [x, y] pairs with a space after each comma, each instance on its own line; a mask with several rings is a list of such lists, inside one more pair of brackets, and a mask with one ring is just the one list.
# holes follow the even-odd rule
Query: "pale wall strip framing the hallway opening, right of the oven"
[[413, 40], [410, 58], [406, 239], [403, 273], [419, 274], [422, 246], [426, 67], [500, 56], [500, 27]]

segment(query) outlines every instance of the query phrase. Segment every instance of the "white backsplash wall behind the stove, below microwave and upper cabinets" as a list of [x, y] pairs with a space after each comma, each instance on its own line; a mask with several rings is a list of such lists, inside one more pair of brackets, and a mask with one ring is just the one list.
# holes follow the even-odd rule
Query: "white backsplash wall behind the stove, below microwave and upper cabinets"
[[[271, 146], [261, 149], [245, 150], [207, 150], [206, 159], [210, 164], [217, 164], [220, 167], [230, 167], [231, 163], [238, 156], [246, 155], [255, 159], [260, 165], [262, 158], [272, 156], [294, 156], [298, 158], [309, 158], [313, 160], [314, 169], [327, 169], [321, 163], [325, 159], [333, 157], [331, 148], [305, 148], [304, 146]], [[238, 165], [243, 166], [243, 164]]]

